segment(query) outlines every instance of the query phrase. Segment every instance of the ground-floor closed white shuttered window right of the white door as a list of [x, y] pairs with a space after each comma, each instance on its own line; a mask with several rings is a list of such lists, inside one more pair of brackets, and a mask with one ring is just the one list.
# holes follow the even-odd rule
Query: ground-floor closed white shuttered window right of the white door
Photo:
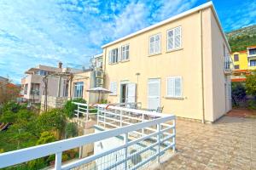
[[167, 97], [182, 97], [182, 77], [167, 78]]

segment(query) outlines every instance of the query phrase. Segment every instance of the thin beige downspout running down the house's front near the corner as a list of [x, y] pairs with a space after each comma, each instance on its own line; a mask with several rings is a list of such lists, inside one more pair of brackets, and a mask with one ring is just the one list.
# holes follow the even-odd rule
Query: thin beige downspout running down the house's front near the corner
[[201, 29], [201, 105], [202, 105], [202, 118], [201, 122], [205, 123], [205, 88], [204, 88], [204, 56], [203, 56], [203, 34], [202, 34], [202, 14], [200, 13], [200, 29]]

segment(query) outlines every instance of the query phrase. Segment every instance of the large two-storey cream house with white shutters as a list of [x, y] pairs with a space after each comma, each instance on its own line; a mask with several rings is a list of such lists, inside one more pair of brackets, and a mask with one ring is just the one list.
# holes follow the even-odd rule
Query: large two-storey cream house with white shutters
[[230, 46], [212, 2], [102, 48], [111, 103], [142, 102], [203, 122], [231, 109]]

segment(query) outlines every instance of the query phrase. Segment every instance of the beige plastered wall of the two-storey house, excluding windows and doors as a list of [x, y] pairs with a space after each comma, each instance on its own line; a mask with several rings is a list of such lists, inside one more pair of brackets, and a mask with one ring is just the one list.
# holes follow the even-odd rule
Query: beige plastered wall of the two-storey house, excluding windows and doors
[[[204, 83], [205, 83], [205, 106], [207, 121], [212, 121], [213, 111], [217, 100], [213, 97], [212, 75], [216, 79], [224, 79], [224, 71], [214, 72], [212, 65], [221, 65], [222, 60], [216, 62], [212, 56], [222, 53], [223, 48], [215, 48], [221, 52], [212, 54], [212, 24], [211, 9], [207, 8], [202, 12], [203, 20], [203, 55], [204, 55]], [[166, 52], [166, 31], [177, 26], [182, 26], [182, 48]], [[129, 81], [137, 83], [137, 101], [142, 102], [143, 107], [148, 107], [148, 78], [160, 78], [160, 105], [164, 106], [165, 113], [173, 113], [177, 116], [193, 119], [202, 118], [202, 69], [201, 69], [201, 17], [196, 12], [187, 17], [172, 21], [164, 26], [146, 31], [136, 37], [131, 37], [122, 42], [113, 44], [103, 49], [105, 62], [105, 87], [109, 88], [112, 81], [118, 82], [118, 94], [108, 96], [111, 103], [119, 103], [120, 82]], [[148, 55], [148, 39], [150, 36], [160, 33], [161, 53], [153, 56]], [[215, 33], [214, 33], [215, 35]], [[218, 34], [217, 34], [218, 35]], [[223, 39], [223, 37], [218, 37]], [[130, 60], [118, 64], [108, 64], [108, 51], [119, 48], [121, 45], [130, 44]], [[216, 42], [218, 43], [218, 42]], [[221, 44], [222, 46], [222, 44]], [[215, 53], [215, 52], [214, 52]], [[222, 56], [222, 55], [221, 55]], [[214, 62], [212, 61], [214, 60]], [[220, 67], [219, 67], [220, 68]], [[223, 68], [222, 68], [223, 69]], [[213, 73], [214, 72], [214, 73]], [[137, 78], [136, 73], [140, 73]], [[183, 79], [183, 99], [166, 98], [166, 77], [180, 76]], [[222, 86], [222, 85], [220, 85]], [[214, 87], [214, 89], [218, 87]], [[214, 91], [215, 93], [215, 91]], [[224, 93], [221, 91], [221, 93]], [[220, 97], [222, 98], [222, 96]], [[214, 107], [214, 108], [213, 108]], [[218, 111], [217, 111], [218, 112]], [[220, 111], [221, 112], [221, 111]]]

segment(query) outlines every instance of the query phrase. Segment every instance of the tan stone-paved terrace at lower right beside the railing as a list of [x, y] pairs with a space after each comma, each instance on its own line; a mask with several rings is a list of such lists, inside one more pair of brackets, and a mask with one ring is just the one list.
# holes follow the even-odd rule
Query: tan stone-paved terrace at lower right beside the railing
[[177, 120], [177, 154], [157, 169], [255, 169], [256, 119]]

